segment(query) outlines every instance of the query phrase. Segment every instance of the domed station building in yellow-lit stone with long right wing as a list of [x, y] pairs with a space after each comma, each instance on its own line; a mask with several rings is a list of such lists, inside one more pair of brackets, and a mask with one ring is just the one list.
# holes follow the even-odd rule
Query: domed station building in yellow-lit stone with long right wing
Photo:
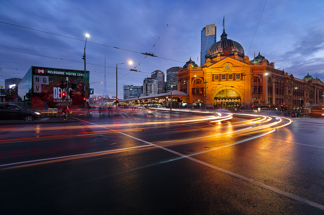
[[324, 104], [324, 83], [309, 75], [295, 78], [259, 55], [249, 59], [243, 47], [227, 39], [208, 50], [203, 67], [190, 60], [178, 71], [178, 91], [186, 93], [188, 107], [280, 108], [290, 110], [305, 104]]

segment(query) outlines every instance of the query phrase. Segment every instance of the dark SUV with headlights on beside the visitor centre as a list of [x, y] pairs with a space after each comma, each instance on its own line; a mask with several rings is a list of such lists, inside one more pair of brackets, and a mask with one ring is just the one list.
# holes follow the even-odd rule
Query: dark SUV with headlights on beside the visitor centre
[[0, 103], [0, 120], [23, 119], [33, 121], [41, 117], [41, 113], [37, 111], [26, 110], [18, 105]]

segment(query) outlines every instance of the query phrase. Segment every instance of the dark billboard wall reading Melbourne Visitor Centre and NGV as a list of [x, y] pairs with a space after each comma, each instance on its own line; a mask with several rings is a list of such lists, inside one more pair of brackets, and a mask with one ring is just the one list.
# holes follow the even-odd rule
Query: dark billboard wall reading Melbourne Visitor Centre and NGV
[[[32, 109], [62, 109], [66, 106], [66, 98], [62, 98], [62, 92], [66, 90], [66, 77], [69, 82], [66, 97], [70, 109], [84, 109], [85, 99], [89, 97], [89, 71], [85, 89], [84, 71], [46, 67], [32, 67]], [[64, 89], [60, 88], [60, 83], [64, 83]], [[73, 83], [76, 84], [74, 90], [71, 88]], [[74, 91], [73, 98], [69, 96], [70, 90]]]

